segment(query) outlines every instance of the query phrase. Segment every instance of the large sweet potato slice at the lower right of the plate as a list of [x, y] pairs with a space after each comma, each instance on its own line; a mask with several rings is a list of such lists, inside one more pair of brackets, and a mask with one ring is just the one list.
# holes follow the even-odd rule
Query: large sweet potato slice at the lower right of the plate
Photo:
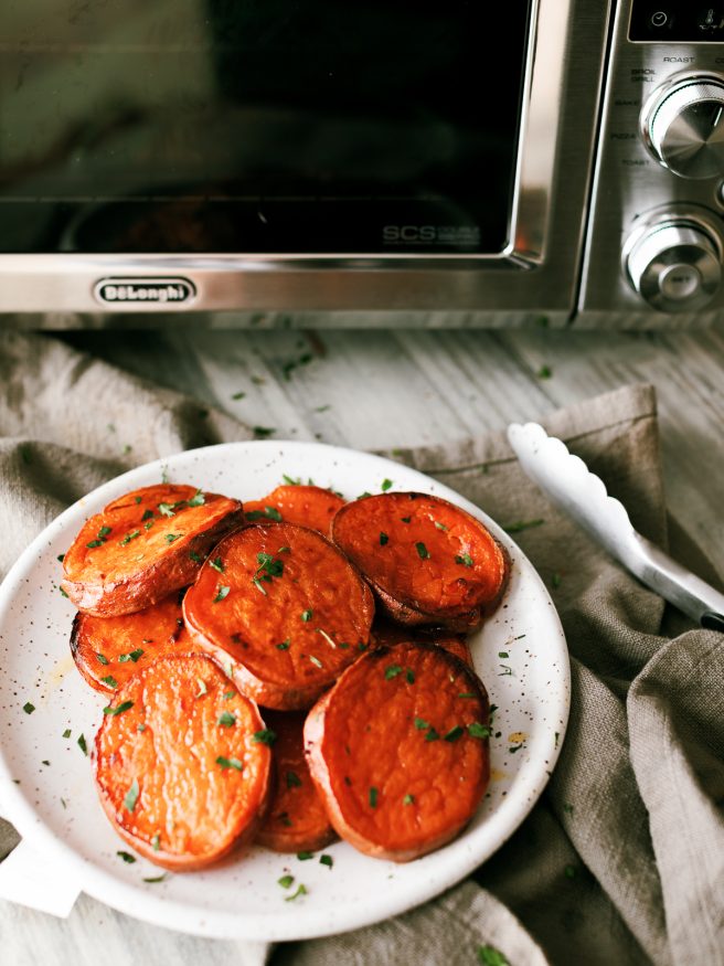
[[370, 651], [310, 711], [305, 750], [339, 835], [405, 862], [450, 841], [489, 781], [488, 696], [440, 647]]

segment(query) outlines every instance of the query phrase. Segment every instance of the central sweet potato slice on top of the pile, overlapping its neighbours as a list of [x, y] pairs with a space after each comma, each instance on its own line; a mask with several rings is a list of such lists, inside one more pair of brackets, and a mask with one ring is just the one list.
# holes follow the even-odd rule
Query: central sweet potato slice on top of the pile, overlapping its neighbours
[[294, 523], [215, 548], [183, 601], [195, 649], [266, 708], [309, 708], [369, 646], [374, 602], [343, 553]]

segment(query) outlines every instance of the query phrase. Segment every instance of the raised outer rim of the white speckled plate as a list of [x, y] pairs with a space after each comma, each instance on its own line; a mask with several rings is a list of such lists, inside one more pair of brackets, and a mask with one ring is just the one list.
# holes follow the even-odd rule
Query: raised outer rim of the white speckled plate
[[[253, 446], [258, 450], [267, 450], [274, 457], [284, 455], [285, 458], [289, 455], [289, 450], [311, 449], [326, 450], [329, 455], [339, 454], [354, 459], [364, 458], [377, 461], [381, 469], [390, 470], [402, 468], [405, 471], [412, 471], [429, 484], [434, 484], [436, 488], [441, 488], [446, 495], [454, 498], [454, 502], [466, 512], [472, 513], [478, 519], [482, 519], [485, 524], [489, 527], [496, 538], [505, 546], [511, 555], [511, 562], [518, 562], [526, 570], [526, 580], [532, 580], [537, 584], [537, 591], [542, 595], [544, 603], [550, 606], [550, 613], [553, 622], [553, 630], [555, 631], [555, 644], [558, 649], [558, 657], [562, 658], [561, 666], [561, 683], [560, 683], [560, 703], [554, 704], [554, 711], [561, 721], [560, 740], [555, 747], [551, 750], [547, 760], [547, 768], [545, 776], [540, 775], [539, 781], [534, 783], [533, 794], [529, 795], [518, 805], [513, 816], [509, 817], [502, 835], [496, 837], [496, 843], [487, 850], [485, 854], [476, 851], [467, 857], [467, 861], [456, 863], [457, 868], [453, 877], [448, 874], [444, 878], [444, 883], [430, 883], [429, 881], [420, 881], [416, 888], [407, 888], [403, 891], [403, 896], [385, 896], [385, 910], [381, 915], [374, 906], [368, 914], [359, 914], [353, 917], [353, 921], [342, 921], [332, 923], [323, 911], [305, 910], [304, 914], [296, 916], [294, 920], [279, 920], [278, 914], [270, 912], [267, 914], [238, 914], [228, 911], [219, 910], [199, 910], [188, 902], [177, 899], [164, 898], [160, 893], [152, 893], [147, 889], [142, 889], [140, 883], [131, 884], [120, 879], [117, 879], [113, 872], [103, 869], [98, 864], [94, 864], [92, 860], [84, 858], [75, 849], [67, 845], [58, 835], [47, 826], [40, 815], [35, 813], [32, 803], [30, 803], [22, 790], [12, 782], [12, 776], [9, 768], [9, 763], [6, 760], [3, 751], [3, 742], [0, 741], [0, 808], [3, 817], [11, 821], [23, 839], [28, 839], [33, 848], [43, 851], [43, 854], [51, 862], [56, 862], [62, 868], [62, 863], [68, 862], [70, 869], [77, 879], [77, 887], [81, 891], [93, 896], [113, 909], [130, 915], [134, 919], [141, 920], [152, 925], [160, 925], [167, 928], [175, 930], [191, 935], [204, 936], [209, 938], [237, 938], [254, 942], [285, 942], [295, 940], [309, 940], [329, 935], [338, 935], [356, 928], [362, 928], [383, 922], [395, 915], [400, 915], [408, 910], [412, 910], [422, 903], [435, 899], [445, 890], [453, 888], [467, 878], [481, 863], [486, 862], [494, 854], [508, 839], [514, 835], [525, 820], [530, 811], [533, 809], [539, 798], [541, 797], [550, 777], [557, 763], [558, 755], [565, 741], [565, 733], [568, 724], [571, 710], [571, 665], [565, 634], [561, 624], [561, 618], [557, 609], [551, 598], [547, 587], [542, 581], [540, 574], [523, 553], [514, 540], [491, 519], [488, 513], [480, 507], [475, 505], [467, 497], [457, 492], [447, 484], [435, 479], [432, 475], [417, 469], [414, 466], [408, 466], [405, 463], [396, 463], [386, 456], [379, 455], [353, 447], [337, 446], [333, 444], [318, 443], [315, 440], [297, 440], [297, 439], [246, 439], [233, 440], [228, 443], [219, 443], [212, 446], [195, 447], [185, 449], [168, 456], [159, 457], [140, 466], [125, 470], [123, 474], [113, 477], [109, 480], [100, 484], [95, 489], [91, 490], [85, 496], [81, 497], [65, 510], [57, 514], [42, 531], [28, 544], [22, 551], [18, 560], [13, 563], [7, 576], [0, 583], [0, 628], [7, 619], [7, 612], [10, 609], [15, 590], [14, 583], [18, 581], [18, 574], [25, 573], [28, 563], [35, 561], [39, 553], [46, 549], [49, 539], [54, 539], [57, 532], [62, 532], [65, 521], [68, 518], [75, 517], [76, 512], [85, 511], [86, 502], [98, 503], [105, 506], [116, 495], [116, 491], [123, 491], [127, 480], [132, 480], [137, 476], [159, 471], [173, 473], [173, 463], [180, 459], [203, 458], [210, 454], [221, 455], [225, 450], [245, 450]], [[324, 467], [327, 469], [327, 467]], [[448, 496], [443, 496], [448, 499]], [[93, 511], [97, 512], [97, 510]], [[540, 768], [539, 768], [540, 771]], [[524, 789], [523, 789], [524, 790]], [[520, 797], [520, 796], [519, 796]], [[508, 807], [512, 798], [507, 799]], [[508, 808], [507, 808], [508, 810]], [[500, 814], [500, 807], [497, 813], [493, 813], [492, 819]], [[465, 830], [461, 836], [465, 836]], [[450, 846], [459, 842], [461, 836], [454, 840]], [[446, 847], [447, 848], [447, 847]], [[281, 853], [280, 853], [281, 854]], [[435, 854], [435, 852], [430, 853]], [[424, 857], [423, 857], [424, 858]], [[212, 871], [212, 870], [210, 870]], [[420, 877], [422, 880], [423, 877]], [[141, 902], [139, 903], [139, 898]], [[201, 921], [184, 921], [184, 913], [194, 909], [196, 912], [202, 912]], [[253, 920], [253, 921], [249, 921]], [[323, 922], [322, 922], [323, 920]]]

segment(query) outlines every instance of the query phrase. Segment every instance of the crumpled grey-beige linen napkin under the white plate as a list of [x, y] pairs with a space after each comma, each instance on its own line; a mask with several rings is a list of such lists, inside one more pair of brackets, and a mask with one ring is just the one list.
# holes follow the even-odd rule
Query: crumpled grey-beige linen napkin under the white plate
[[[0, 336], [0, 385], [2, 573], [43, 526], [109, 477], [252, 435], [221, 412], [45, 337]], [[666, 545], [653, 390], [621, 389], [543, 422], [622, 500], [637, 529]], [[543, 521], [515, 539], [553, 595], [571, 651], [573, 702], [561, 758], [531, 816], [473, 879], [358, 932], [273, 949], [236, 944], [236, 960], [724, 963], [722, 635], [663, 636], [663, 602], [550, 506], [502, 435], [394, 450], [393, 458], [501, 523]], [[692, 550], [682, 543], [680, 559], [684, 549]], [[683, 562], [712, 578], [703, 558]], [[0, 857], [15, 841], [3, 824]], [[72, 916], [91, 920], [89, 904], [83, 900]], [[159, 934], [168, 948], [163, 931], [114, 915], [136, 942]], [[177, 962], [215, 962], [212, 945], [180, 944]]]

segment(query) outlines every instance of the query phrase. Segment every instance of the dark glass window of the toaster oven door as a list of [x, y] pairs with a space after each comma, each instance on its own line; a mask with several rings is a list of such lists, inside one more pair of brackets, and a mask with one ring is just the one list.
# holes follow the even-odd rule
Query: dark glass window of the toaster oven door
[[0, 251], [496, 255], [530, 0], [2, 0]]

